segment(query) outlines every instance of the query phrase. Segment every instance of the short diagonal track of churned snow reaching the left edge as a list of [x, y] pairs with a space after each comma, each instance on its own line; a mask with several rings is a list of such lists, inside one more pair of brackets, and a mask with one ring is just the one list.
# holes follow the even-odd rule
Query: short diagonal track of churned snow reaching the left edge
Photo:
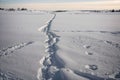
[[8, 48], [2, 49], [2, 50], [0, 50], [0, 57], [8, 55], [10, 53], [13, 53], [15, 50], [21, 49], [21, 48], [23, 48], [23, 47], [25, 47], [27, 45], [32, 44], [32, 43], [33, 43], [33, 41], [30, 41], [30, 42], [27, 42], [27, 43], [20, 43], [18, 45], [10, 46]]

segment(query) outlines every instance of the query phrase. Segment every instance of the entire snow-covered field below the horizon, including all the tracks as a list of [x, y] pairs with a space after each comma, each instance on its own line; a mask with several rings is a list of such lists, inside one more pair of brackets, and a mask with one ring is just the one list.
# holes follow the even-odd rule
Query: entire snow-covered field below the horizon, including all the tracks
[[119, 80], [120, 13], [0, 11], [0, 80]]

